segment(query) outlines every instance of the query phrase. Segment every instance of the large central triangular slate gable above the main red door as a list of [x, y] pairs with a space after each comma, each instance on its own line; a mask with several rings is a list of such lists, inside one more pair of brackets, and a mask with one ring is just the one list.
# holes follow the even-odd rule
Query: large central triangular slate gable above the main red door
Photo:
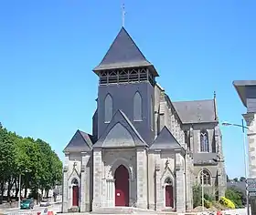
[[114, 114], [101, 138], [93, 145], [93, 148], [133, 147], [147, 147], [147, 144], [121, 110]]

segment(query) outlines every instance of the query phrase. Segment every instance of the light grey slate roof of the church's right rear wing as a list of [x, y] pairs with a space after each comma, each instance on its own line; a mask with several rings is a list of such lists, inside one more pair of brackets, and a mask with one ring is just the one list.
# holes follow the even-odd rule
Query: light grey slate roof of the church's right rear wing
[[214, 99], [173, 102], [183, 123], [216, 122]]

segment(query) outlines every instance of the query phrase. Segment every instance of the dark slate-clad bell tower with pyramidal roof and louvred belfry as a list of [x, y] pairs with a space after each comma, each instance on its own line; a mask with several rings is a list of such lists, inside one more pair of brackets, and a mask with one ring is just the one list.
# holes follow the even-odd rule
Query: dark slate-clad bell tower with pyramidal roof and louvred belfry
[[98, 137], [120, 109], [146, 142], [154, 139], [154, 87], [158, 74], [124, 27], [93, 69], [99, 77]]

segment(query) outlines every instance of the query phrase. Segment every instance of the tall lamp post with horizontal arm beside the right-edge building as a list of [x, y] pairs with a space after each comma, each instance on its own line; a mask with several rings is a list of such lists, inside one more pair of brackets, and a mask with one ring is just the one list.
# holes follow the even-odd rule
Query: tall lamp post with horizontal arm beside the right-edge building
[[[249, 178], [249, 174], [248, 174], [248, 165], [249, 165], [249, 161], [248, 161], [248, 146], [246, 144], [246, 133], [245, 133], [245, 129], [249, 129], [248, 127], [244, 126], [244, 122], [243, 119], [241, 119], [241, 125], [240, 124], [235, 124], [235, 123], [229, 123], [229, 122], [223, 122], [222, 126], [233, 126], [233, 127], [240, 127], [242, 128], [242, 134], [243, 134], [243, 159], [244, 159], [244, 173], [245, 173], [245, 178], [248, 179]], [[249, 191], [247, 190], [248, 184], [245, 183], [246, 186], [246, 210], [247, 210], [247, 214], [250, 214], [250, 208], [249, 208]]]

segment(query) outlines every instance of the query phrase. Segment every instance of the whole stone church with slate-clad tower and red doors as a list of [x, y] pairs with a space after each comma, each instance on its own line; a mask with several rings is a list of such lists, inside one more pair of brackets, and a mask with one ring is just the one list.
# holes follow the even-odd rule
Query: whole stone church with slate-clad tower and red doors
[[226, 189], [216, 97], [172, 102], [124, 28], [98, 67], [92, 135], [78, 130], [64, 149], [62, 212], [193, 207], [192, 187]]

